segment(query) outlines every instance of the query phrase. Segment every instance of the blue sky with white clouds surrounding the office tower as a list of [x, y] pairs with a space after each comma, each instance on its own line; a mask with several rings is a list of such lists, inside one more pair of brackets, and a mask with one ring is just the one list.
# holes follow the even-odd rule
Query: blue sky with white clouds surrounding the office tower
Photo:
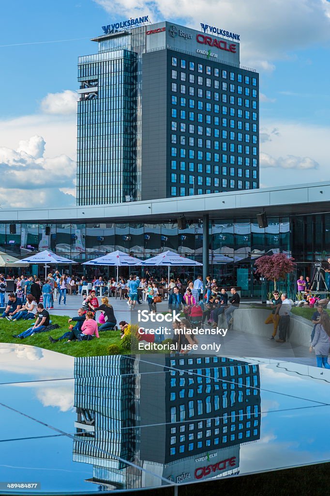
[[328, 1], [13, 0], [0, 20], [3, 208], [74, 203], [77, 58], [97, 51], [101, 26], [135, 14], [240, 33], [241, 64], [260, 73], [261, 185], [329, 180]]

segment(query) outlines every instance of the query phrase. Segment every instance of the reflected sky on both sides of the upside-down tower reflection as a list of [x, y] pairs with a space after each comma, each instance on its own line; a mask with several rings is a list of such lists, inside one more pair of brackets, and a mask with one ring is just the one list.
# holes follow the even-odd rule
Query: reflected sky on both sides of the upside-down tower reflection
[[[0, 345], [0, 402], [18, 411], [0, 406], [0, 481], [38, 481], [45, 492], [97, 491], [84, 482], [90, 465], [72, 461], [72, 439], [51, 429], [74, 432], [73, 363], [47, 350]], [[164, 373], [157, 365], [155, 372]], [[320, 373], [293, 363], [260, 364], [261, 438], [240, 446], [241, 475], [330, 459], [330, 371]]]

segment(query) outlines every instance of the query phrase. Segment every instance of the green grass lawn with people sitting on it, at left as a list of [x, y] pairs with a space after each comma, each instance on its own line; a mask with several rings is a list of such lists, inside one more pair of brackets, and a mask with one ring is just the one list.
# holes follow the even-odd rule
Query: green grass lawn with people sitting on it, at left
[[110, 344], [119, 346], [121, 354], [129, 353], [121, 347], [121, 339], [119, 331], [104, 331], [100, 332], [100, 338], [94, 338], [92, 341], [72, 342], [65, 344], [65, 340], [57, 343], [51, 343], [49, 336], [58, 338], [68, 330], [68, 316], [51, 315], [52, 324], [58, 324], [60, 329], [55, 329], [50, 332], [37, 333], [25, 339], [13, 338], [13, 334], [20, 334], [22, 331], [34, 325], [34, 320], [18, 320], [17, 322], [9, 322], [7, 319], [0, 318], [0, 342], [2, 343], [17, 343], [39, 346], [47, 350], [57, 351], [64, 355], [72, 357], [88, 357], [97, 355], [108, 355], [107, 348]]

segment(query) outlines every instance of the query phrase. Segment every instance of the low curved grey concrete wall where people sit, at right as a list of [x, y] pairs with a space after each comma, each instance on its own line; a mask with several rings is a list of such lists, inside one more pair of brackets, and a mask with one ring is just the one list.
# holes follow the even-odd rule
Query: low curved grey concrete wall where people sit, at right
[[[265, 320], [270, 313], [270, 310], [240, 307], [233, 313], [233, 328], [248, 334], [257, 334], [259, 336], [270, 337], [273, 332], [273, 324], [265, 324]], [[224, 328], [227, 327], [223, 313], [219, 316], [218, 326]], [[312, 321], [308, 321], [303, 317], [291, 314], [290, 326], [286, 340], [292, 344], [309, 346], [312, 330]]]

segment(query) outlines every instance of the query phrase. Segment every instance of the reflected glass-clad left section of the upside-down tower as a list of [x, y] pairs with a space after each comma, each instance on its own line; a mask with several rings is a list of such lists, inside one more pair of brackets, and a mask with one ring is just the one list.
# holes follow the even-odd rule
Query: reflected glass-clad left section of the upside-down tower
[[[74, 366], [77, 429], [73, 461], [93, 464], [89, 481], [120, 488], [136, 487], [135, 469], [111, 456], [135, 462], [138, 417], [138, 360], [124, 356], [76, 358]], [[87, 446], [80, 441], [91, 441]], [[109, 456], [97, 448], [109, 451]], [[138, 483], [139, 484], [139, 483]], [[139, 487], [139, 486], [138, 486]]]

